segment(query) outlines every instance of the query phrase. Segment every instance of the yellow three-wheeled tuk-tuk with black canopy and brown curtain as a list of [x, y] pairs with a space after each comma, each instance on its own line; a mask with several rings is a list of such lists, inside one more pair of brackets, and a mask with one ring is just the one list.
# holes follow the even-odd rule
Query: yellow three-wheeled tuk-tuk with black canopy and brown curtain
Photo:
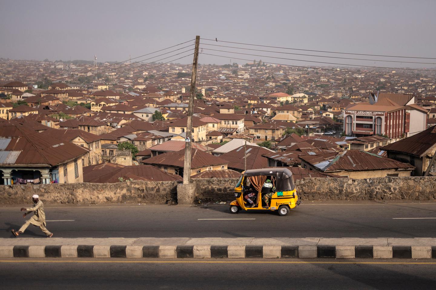
[[301, 201], [297, 197], [292, 172], [287, 168], [253, 169], [242, 172], [235, 186], [236, 200], [230, 212], [239, 210], [278, 210], [286, 216]]

